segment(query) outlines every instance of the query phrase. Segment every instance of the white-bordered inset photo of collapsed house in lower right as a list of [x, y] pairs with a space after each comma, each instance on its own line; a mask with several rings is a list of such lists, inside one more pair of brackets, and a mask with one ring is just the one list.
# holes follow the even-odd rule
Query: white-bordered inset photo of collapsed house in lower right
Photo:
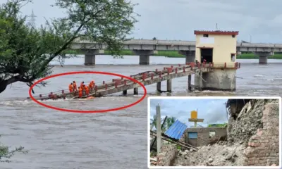
[[148, 99], [148, 168], [281, 168], [279, 138], [281, 97]]

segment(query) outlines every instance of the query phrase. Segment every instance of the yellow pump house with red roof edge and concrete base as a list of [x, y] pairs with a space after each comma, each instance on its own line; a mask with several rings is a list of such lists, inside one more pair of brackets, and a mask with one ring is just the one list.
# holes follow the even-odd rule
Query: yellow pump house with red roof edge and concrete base
[[[207, 90], [228, 90], [236, 88], [236, 44], [238, 31], [195, 30], [195, 60], [214, 63], [214, 70], [195, 75], [195, 88]], [[226, 68], [225, 68], [226, 67]]]

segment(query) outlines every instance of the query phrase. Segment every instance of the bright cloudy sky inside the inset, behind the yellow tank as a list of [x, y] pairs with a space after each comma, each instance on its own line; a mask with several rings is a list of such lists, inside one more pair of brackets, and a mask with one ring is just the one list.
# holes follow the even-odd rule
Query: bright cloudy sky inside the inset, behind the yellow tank
[[198, 110], [198, 118], [204, 118], [203, 123], [198, 123], [204, 127], [207, 124], [226, 123], [226, 103], [227, 99], [151, 99], [150, 117], [156, 115], [156, 106], [161, 106], [161, 116], [173, 116], [188, 127], [194, 123], [188, 122], [191, 111]]

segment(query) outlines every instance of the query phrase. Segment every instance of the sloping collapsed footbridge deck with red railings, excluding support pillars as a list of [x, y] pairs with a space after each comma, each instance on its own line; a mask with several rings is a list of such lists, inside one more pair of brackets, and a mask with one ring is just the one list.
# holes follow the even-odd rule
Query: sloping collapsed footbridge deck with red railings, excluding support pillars
[[[232, 68], [237, 69], [240, 68], [240, 63], [234, 64], [226, 64], [226, 63], [206, 63], [206, 64], [198, 64], [195, 63], [187, 63], [186, 65], [178, 65], [173, 67], [171, 65], [170, 68], [164, 68], [163, 70], [153, 70], [147, 71], [145, 73], [138, 73], [137, 75], [132, 75], [131, 78], [137, 80], [143, 85], [155, 84], [157, 82], [161, 82], [164, 80], [171, 80], [178, 77], [188, 76], [195, 74], [197, 70], [202, 70], [202, 72], [212, 71], [214, 68]], [[141, 87], [137, 82], [133, 82], [133, 80], [129, 79], [115, 79], [111, 82], [103, 82], [102, 84], [95, 84], [94, 89], [90, 90], [90, 94], [87, 96], [84, 95], [82, 98], [86, 98], [88, 96], [105, 96], [108, 94], [114, 94], [117, 92], [121, 92], [128, 89], [134, 89], [137, 87]], [[60, 98], [68, 98], [68, 99], [76, 99], [78, 98], [78, 93], [73, 94], [71, 92], [65, 92], [68, 89], [62, 90], [60, 92], [51, 92], [49, 94], [40, 94], [39, 96], [34, 96], [35, 99], [46, 100], [46, 99], [60, 99]]]

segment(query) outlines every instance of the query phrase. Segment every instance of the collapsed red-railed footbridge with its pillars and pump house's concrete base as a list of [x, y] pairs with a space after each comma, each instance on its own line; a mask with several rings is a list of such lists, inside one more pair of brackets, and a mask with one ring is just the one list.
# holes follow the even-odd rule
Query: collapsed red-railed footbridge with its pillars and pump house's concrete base
[[[161, 70], [152, 70], [145, 73], [138, 73], [137, 75], [130, 75], [133, 79], [141, 82], [142, 84], [149, 85], [157, 83], [157, 91], [161, 91], [161, 82], [166, 81], [167, 89], [165, 92], [172, 92], [172, 79], [188, 76], [188, 89], [192, 90], [191, 75], [195, 75], [195, 89], [214, 89], [214, 90], [235, 90], [235, 74], [228, 75], [228, 70], [233, 72], [240, 68], [240, 63], [186, 63], [186, 65], [178, 65], [170, 68], [164, 68]], [[226, 71], [226, 74], [221, 74], [219, 77], [215, 77], [214, 73], [217, 70]], [[229, 73], [230, 74], [230, 73]], [[217, 74], [216, 74], [217, 75]], [[128, 89], [133, 89], [133, 94], [138, 94], [138, 87], [140, 84], [128, 79], [114, 79], [110, 82], [103, 81], [100, 84], [94, 84], [94, 89], [87, 96], [106, 96], [108, 94], [114, 94], [117, 92], [123, 92], [127, 94]], [[83, 96], [82, 98], [86, 98]], [[59, 98], [77, 98], [78, 94], [72, 94], [68, 92], [68, 89], [61, 90], [59, 92], [51, 92], [48, 94], [40, 94], [35, 96], [35, 99], [59, 99]]]

